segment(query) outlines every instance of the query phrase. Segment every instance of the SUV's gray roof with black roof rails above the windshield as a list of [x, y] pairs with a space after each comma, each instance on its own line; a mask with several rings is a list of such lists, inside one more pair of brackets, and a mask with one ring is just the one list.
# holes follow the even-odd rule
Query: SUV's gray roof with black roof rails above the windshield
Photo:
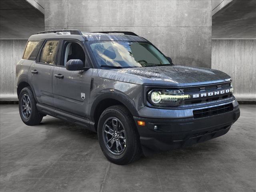
[[[74, 30], [73, 30], [74, 31]], [[80, 41], [142, 41], [147, 42], [146, 39], [137, 36], [132, 32], [80, 32], [73, 33], [67, 32], [67, 30], [63, 31], [46, 31], [46, 32], [38, 32], [39, 34], [32, 35], [28, 39], [29, 41], [39, 41], [41, 39], [56, 39], [56, 38], [64, 38], [64, 39], [77, 39]], [[134, 34], [134, 35], [131, 35]]]

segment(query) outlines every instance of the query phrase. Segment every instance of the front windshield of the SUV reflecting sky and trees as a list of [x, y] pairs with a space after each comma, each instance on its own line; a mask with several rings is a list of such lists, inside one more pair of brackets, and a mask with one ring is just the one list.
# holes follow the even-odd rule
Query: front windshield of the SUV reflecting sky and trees
[[154, 46], [146, 42], [98, 41], [90, 44], [99, 66], [132, 68], [171, 65]]

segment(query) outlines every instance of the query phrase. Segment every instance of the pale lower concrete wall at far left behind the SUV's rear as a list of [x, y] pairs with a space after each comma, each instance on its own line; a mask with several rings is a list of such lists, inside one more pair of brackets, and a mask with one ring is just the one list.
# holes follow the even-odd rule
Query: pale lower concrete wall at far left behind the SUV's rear
[[0, 40], [1, 98], [17, 97], [16, 64], [22, 58], [27, 40]]

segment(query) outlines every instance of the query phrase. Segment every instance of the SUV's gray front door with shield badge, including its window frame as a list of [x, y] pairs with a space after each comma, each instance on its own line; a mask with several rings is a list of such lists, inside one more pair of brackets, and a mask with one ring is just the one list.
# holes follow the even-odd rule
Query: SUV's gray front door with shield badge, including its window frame
[[87, 71], [68, 71], [65, 64], [70, 59], [86, 62], [80, 42], [64, 41], [60, 63], [53, 72], [52, 90], [54, 106], [59, 110], [86, 117], [90, 96], [92, 69]]

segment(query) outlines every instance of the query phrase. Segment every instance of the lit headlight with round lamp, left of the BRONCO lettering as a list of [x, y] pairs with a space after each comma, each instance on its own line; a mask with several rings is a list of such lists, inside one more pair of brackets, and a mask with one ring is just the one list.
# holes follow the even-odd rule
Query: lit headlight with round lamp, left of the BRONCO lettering
[[190, 95], [183, 94], [178, 89], [153, 89], [147, 94], [148, 102], [155, 106], [178, 106]]

